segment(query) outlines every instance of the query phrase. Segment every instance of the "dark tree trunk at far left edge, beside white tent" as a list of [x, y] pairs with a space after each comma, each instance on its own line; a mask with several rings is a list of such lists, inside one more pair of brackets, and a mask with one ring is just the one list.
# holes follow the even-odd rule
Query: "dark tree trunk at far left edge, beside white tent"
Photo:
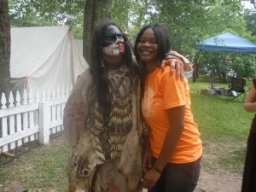
[[10, 20], [8, 0], [0, 0], [0, 94], [9, 93]]

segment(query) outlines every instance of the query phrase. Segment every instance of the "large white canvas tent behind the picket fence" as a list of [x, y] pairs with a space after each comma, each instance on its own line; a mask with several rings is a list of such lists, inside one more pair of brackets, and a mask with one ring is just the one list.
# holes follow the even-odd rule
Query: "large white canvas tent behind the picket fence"
[[69, 26], [11, 28], [12, 90], [71, 85], [87, 67]]

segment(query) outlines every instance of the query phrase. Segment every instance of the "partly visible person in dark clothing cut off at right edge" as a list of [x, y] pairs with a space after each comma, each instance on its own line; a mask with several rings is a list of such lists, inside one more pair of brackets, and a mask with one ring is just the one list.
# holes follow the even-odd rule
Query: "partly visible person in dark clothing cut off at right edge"
[[[244, 102], [247, 112], [256, 112], [256, 78], [253, 78], [247, 99]], [[241, 192], [256, 191], [256, 116], [254, 116], [249, 136], [247, 138], [247, 152], [243, 170]]]

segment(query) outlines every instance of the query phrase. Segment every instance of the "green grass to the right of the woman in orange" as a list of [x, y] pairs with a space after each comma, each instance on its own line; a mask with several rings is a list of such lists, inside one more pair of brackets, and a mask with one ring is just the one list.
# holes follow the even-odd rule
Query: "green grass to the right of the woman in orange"
[[[199, 94], [209, 83], [189, 85], [192, 113], [203, 142], [204, 168], [212, 172], [224, 169], [225, 172], [241, 173], [253, 113], [245, 112], [241, 101]], [[226, 84], [218, 85], [227, 87]]]

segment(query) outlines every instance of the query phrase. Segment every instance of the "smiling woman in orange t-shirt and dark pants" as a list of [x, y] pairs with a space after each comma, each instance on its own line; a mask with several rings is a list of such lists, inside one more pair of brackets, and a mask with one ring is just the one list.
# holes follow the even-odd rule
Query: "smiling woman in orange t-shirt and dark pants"
[[171, 49], [166, 30], [148, 25], [138, 33], [135, 56], [143, 65], [142, 111], [150, 135], [143, 146], [143, 187], [150, 192], [192, 192], [200, 175], [202, 146], [191, 113], [187, 80], [163, 72], [160, 61]]

